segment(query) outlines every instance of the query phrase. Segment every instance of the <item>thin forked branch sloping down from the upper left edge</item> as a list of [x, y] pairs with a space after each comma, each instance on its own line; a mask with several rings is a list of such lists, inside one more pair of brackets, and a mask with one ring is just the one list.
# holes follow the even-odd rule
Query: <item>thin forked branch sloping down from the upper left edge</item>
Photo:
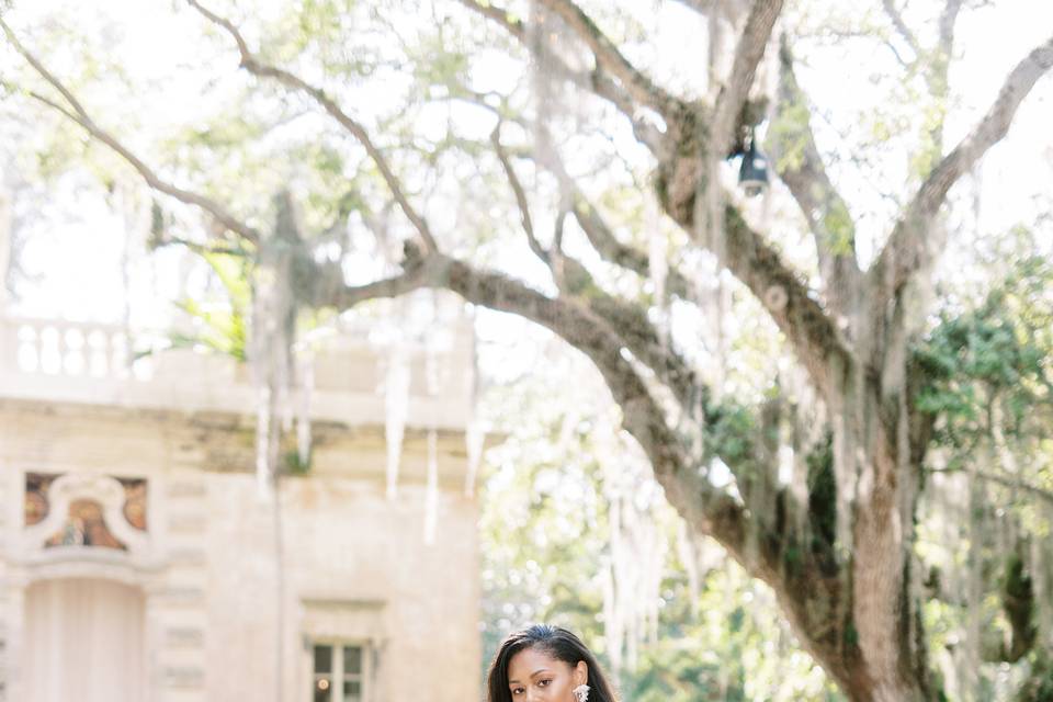
[[143, 177], [146, 183], [154, 190], [174, 197], [176, 200], [179, 200], [185, 204], [201, 207], [212, 215], [212, 217], [226, 229], [240, 235], [249, 241], [259, 241], [259, 233], [256, 231], [256, 229], [235, 217], [219, 203], [206, 197], [205, 195], [201, 195], [182, 188], [177, 188], [172, 183], [158, 176], [154, 169], [147, 166], [143, 159], [137, 157], [121, 140], [113, 136], [112, 133], [103, 129], [91, 118], [91, 115], [80, 103], [80, 101], [77, 100], [72, 91], [70, 91], [57, 77], [55, 77], [54, 73], [47, 70], [47, 68], [36, 58], [36, 56], [33, 55], [33, 53], [22, 45], [18, 36], [15, 36], [14, 32], [10, 26], [8, 26], [7, 22], [4, 22], [2, 18], [0, 18], [0, 29], [3, 30], [8, 41], [12, 46], [14, 46], [15, 50], [22, 55], [26, 63], [29, 63], [30, 66], [32, 66], [33, 69], [63, 97], [63, 99], [69, 105], [69, 109], [64, 107], [54, 100], [50, 100], [45, 95], [34, 91], [29, 92], [31, 98], [61, 113], [70, 121], [80, 125], [92, 137], [105, 144], [111, 150], [131, 165], [132, 168], [134, 168], [139, 176]]

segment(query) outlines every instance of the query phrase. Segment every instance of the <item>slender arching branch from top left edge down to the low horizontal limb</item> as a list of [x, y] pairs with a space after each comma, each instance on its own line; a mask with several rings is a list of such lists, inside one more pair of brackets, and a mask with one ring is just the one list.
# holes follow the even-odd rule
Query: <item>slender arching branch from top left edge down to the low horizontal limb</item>
[[406, 193], [403, 192], [401, 184], [388, 165], [387, 159], [376, 147], [376, 145], [370, 138], [369, 133], [361, 124], [343, 112], [343, 110], [341, 110], [340, 106], [331, 98], [329, 98], [322, 89], [307, 83], [298, 76], [287, 70], [263, 64], [257, 59], [252, 52], [249, 50], [248, 44], [245, 42], [241, 33], [229, 20], [207, 10], [200, 2], [197, 2], [197, 0], [186, 0], [186, 2], [205, 19], [220, 26], [234, 38], [238, 46], [238, 53], [241, 55], [242, 68], [253, 76], [259, 78], [274, 79], [286, 88], [308, 94], [315, 100], [315, 102], [321, 105], [321, 107], [329, 113], [329, 115], [332, 116], [344, 129], [350, 132], [351, 135], [359, 141], [359, 144], [365, 148], [366, 154], [369, 154], [370, 158], [381, 171], [381, 176], [384, 178], [384, 182], [387, 183], [388, 189], [392, 191], [395, 202], [398, 203], [403, 214], [405, 214], [406, 218], [409, 219], [410, 224], [414, 225], [414, 228], [417, 229], [417, 233], [420, 235], [420, 238], [424, 244], [424, 248], [432, 252], [439, 250], [439, 246], [435, 242], [434, 236], [431, 234], [431, 228], [428, 226], [428, 223], [409, 203], [409, 200], [406, 197]]

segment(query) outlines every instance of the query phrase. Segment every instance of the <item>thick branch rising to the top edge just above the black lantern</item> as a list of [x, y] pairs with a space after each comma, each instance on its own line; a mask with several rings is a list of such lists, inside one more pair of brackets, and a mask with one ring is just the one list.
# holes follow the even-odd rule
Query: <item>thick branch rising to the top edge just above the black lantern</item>
[[746, 18], [746, 26], [735, 47], [735, 59], [727, 82], [721, 88], [713, 111], [709, 151], [723, 159], [735, 139], [738, 116], [754, 84], [757, 65], [765, 55], [783, 0], [756, 0]]

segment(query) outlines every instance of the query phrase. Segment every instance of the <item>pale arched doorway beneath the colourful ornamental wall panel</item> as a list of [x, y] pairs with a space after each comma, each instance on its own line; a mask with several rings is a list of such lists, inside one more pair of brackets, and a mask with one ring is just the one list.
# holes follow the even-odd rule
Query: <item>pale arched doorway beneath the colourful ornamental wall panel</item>
[[144, 598], [110, 580], [35, 582], [25, 597], [27, 700], [141, 702]]

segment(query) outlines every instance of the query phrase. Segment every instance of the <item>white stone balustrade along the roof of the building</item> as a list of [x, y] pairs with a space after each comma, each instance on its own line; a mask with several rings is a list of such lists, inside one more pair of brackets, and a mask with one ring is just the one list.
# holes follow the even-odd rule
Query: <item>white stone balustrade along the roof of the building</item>
[[[438, 386], [437, 373], [427, 372], [427, 340], [400, 349], [411, 376], [407, 426], [464, 429], [467, 423], [474, 372], [471, 320], [455, 318], [442, 333], [446, 341], [432, 363]], [[310, 352], [312, 418], [383, 423], [382, 389], [393, 349], [362, 324], [344, 324], [321, 337]], [[129, 338], [116, 325], [0, 316], [0, 398], [254, 411], [258, 392], [250, 367], [203, 350], [166, 349], [166, 343], [161, 335]], [[299, 392], [291, 401], [299, 401]]]

